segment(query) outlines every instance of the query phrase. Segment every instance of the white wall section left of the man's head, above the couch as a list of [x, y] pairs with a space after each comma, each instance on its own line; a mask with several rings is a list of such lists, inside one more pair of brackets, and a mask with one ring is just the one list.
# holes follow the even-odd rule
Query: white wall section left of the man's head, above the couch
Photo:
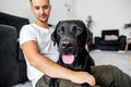
[[34, 20], [31, 12], [29, 0], [0, 0], [0, 12]]

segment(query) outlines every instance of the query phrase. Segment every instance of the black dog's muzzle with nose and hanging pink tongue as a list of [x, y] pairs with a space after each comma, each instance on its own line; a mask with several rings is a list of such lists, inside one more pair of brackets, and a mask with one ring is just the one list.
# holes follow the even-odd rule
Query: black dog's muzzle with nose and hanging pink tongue
[[75, 61], [79, 48], [75, 41], [63, 40], [59, 46], [61, 59], [64, 64], [72, 64]]

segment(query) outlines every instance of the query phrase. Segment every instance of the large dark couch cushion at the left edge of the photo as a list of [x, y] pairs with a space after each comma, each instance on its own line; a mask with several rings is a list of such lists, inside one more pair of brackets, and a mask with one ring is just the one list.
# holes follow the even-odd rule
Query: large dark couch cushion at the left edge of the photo
[[0, 24], [0, 87], [11, 87], [17, 80], [16, 28]]

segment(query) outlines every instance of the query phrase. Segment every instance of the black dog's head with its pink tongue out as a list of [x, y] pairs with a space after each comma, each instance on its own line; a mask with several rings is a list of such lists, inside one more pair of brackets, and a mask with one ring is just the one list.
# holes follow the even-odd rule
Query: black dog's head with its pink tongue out
[[87, 28], [82, 21], [61, 21], [57, 24], [51, 39], [58, 45], [63, 63], [72, 64], [78, 53], [85, 49]]

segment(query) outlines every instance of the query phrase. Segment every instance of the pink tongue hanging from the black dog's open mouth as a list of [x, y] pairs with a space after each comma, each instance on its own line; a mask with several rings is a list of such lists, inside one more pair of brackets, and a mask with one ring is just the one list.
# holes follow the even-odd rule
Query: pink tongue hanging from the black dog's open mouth
[[64, 64], [72, 64], [74, 62], [74, 54], [62, 54], [62, 61]]

